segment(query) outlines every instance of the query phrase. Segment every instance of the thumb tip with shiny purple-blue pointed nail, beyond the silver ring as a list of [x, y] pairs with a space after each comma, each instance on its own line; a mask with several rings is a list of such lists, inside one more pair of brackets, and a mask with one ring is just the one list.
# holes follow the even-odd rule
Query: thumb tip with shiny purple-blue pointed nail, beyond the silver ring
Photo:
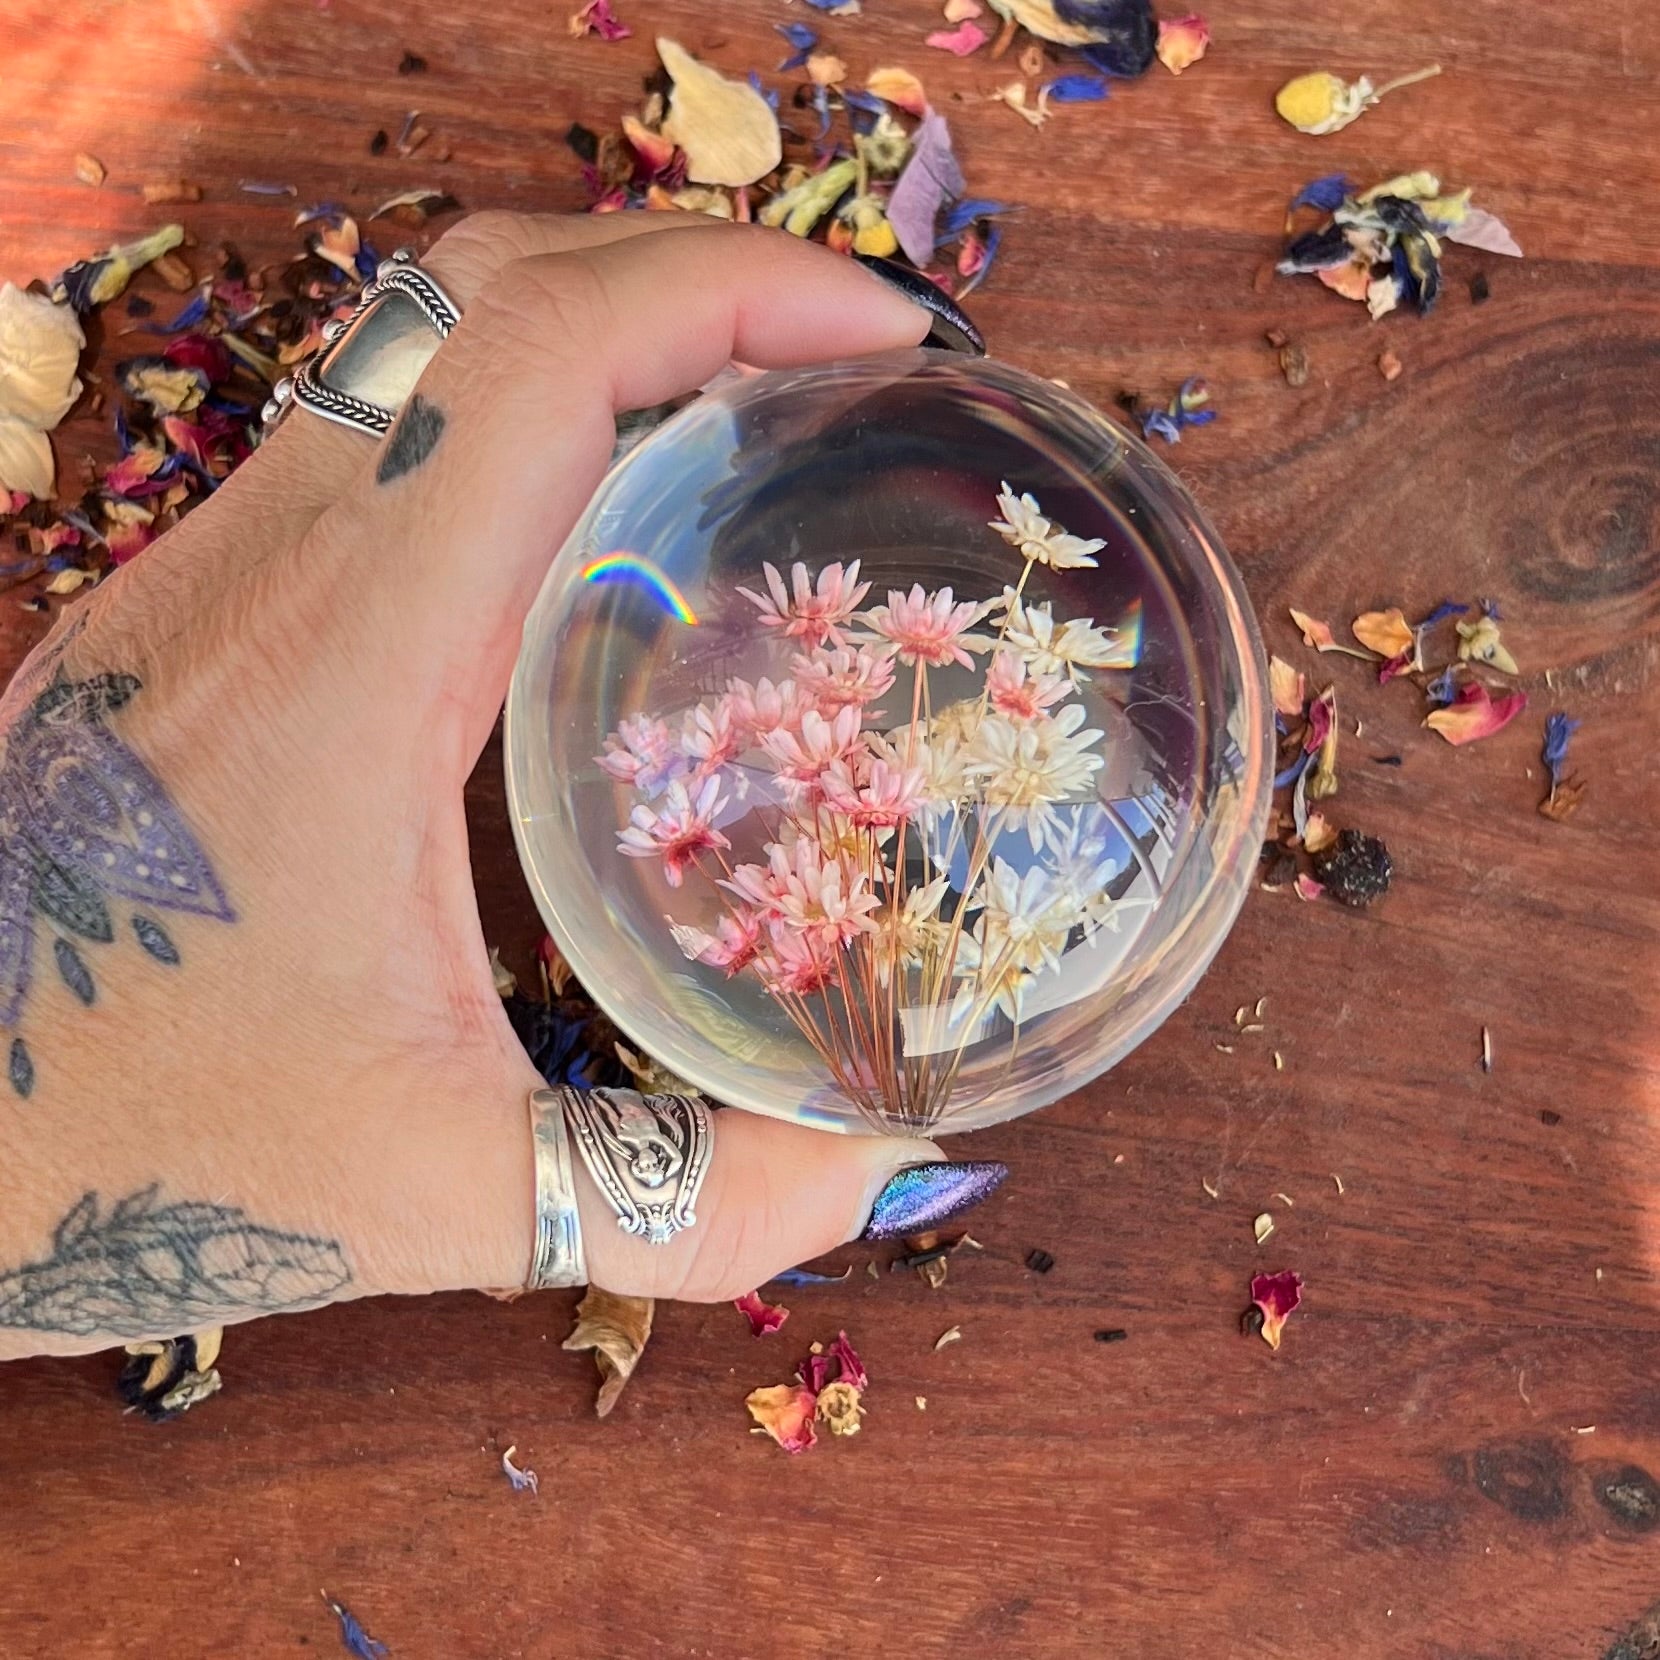
[[591, 1283], [627, 1296], [724, 1301], [848, 1240], [938, 1227], [1009, 1174], [988, 1160], [951, 1162], [926, 1140], [835, 1135], [734, 1111], [712, 1119], [697, 1222], [667, 1245], [624, 1233], [579, 1172]]

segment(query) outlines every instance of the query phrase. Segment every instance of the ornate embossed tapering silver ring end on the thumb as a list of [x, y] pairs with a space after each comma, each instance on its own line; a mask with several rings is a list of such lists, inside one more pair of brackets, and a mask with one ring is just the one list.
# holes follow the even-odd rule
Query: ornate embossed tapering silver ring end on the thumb
[[624, 1233], [667, 1245], [697, 1222], [697, 1190], [714, 1152], [709, 1107], [697, 1096], [564, 1089], [576, 1147]]

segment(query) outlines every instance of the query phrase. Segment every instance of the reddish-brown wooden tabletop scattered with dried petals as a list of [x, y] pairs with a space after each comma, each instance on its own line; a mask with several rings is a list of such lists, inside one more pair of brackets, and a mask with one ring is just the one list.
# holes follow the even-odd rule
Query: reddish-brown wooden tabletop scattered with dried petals
[[[5, 10], [18, 281], [148, 229], [174, 209], [136, 186], [181, 173], [208, 188], [183, 209], [198, 241], [261, 259], [295, 246], [294, 203], [242, 179], [357, 211], [428, 183], [574, 208], [564, 128], [634, 106], [654, 27], [770, 71], [772, 25], [807, 15], [632, 0], [641, 33], [603, 45], [525, 0]], [[999, 355], [1102, 402], [1208, 375], [1222, 418], [1170, 458], [1272, 644], [1365, 719], [1333, 805], [1389, 842], [1388, 901], [1255, 893], [1152, 1041], [976, 1140], [1014, 1177], [943, 1290], [852, 1252], [845, 1286], [787, 1296], [780, 1338], [664, 1308], [606, 1423], [558, 1295], [232, 1331], [222, 1396], [159, 1429], [121, 1416], [110, 1358], [0, 1370], [8, 1657], [329, 1653], [319, 1587], [393, 1655], [440, 1660], [1660, 1653], [1660, 48], [1638, 8], [1589, 0], [1210, 15], [1180, 81], [1155, 66], [1041, 133], [978, 98], [1006, 78], [984, 58], [923, 50], [938, 17], [915, 0], [820, 27], [855, 73], [925, 71], [973, 191], [1026, 204], [974, 300]], [[395, 73], [405, 48], [423, 76]], [[1433, 60], [1441, 80], [1340, 136], [1270, 110], [1305, 68]], [[372, 159], [410, 108], [428, 149]], [[1253, 286], [1296, 184], [1409, 166], [1474, 184], [1527, 261], [1454, 252], [1434, 317], [1376, 327], [1311, 279]], [[1301, 390], [1270, 327], [1308, 347]], [[93, 442], [76, 427], [65, 453]], [[1285, 621], [1444, 594], [1502, 599], [1534, 699], [1466, 750]], [[13, 656], [40, 621], [5, 608]], [[1552, 707], [1584, 719], [1565, 825], [1534, 812]], [[480, 885], [523, 963], [498, 765], [473, 792]], [[1258, 998], [1267, 1031], [1240, 1038]], [[1278, 1355], [1238, 1333], [1260, 1267], [1308, 1282]], [[876, 1379], [865, 1433], [800, 1459], [752, 1439], [745, 1391], [838, 1328]], [[503, 1481], [508, 1443], [540, 1497]]]

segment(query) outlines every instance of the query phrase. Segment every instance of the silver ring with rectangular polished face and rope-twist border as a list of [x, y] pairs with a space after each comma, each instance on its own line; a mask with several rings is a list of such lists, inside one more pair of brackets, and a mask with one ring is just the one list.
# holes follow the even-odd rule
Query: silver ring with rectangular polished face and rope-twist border
[[415, 264], [415, 249], [400, 247], [364, 286], [352, 315], [324, 324], [322, 349], [271, 388], [267, 425], [297, 405], [385, 437], [460, 320], [455, 300]]

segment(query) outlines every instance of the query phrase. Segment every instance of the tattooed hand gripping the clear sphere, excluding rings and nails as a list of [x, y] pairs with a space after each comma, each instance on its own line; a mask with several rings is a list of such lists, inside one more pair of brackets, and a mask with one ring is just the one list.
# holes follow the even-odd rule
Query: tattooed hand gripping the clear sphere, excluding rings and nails
[[[0, 701], [0, 1358], [523, 1283], [540, 1079], [461, 788], [525, 613], [614, 412], [928, 324], [676, 214], [480, 216], [425, 264], [463, 320], [388, 438], [295, 412]], [[672, 1247], [584, 1187], [589, 1270], [742, 1293], [930, 1155], [729, 1114]]]

